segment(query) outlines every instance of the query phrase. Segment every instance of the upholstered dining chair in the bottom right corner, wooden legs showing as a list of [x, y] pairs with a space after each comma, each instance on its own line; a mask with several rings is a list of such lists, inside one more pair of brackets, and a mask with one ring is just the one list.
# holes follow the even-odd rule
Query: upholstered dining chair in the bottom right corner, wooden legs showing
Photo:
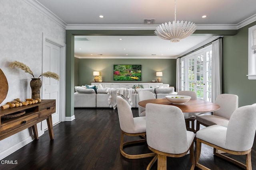
[[[251, 150], [256, 132], [256, 105], [239, 107], [231, 115], [228, 127], [212, 125], [196, 132], [196, 166], [207, 168], [198, 163], [201, 143], [214, 148], [214, 155], [224, 158], [242, 168], [252, 170]], [[246, 164], [238, 162], [216, 149], [229, 154], [246, 155]]]

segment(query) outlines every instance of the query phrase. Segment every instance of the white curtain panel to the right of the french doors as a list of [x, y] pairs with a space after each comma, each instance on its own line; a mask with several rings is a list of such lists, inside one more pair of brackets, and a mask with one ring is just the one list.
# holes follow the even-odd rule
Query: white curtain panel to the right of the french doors
[[222, 94], [222, 38], [212, 42], [212, 102]]

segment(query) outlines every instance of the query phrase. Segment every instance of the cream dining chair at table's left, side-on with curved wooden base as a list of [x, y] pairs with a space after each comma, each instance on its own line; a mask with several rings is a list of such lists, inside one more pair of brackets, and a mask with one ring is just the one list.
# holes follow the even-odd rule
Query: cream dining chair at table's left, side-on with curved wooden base
[[127, 136], [145, 136], [146, 135], [146, 117], [133, 117], [130, 105], [121, 96], [116, 97], [118, 118], [121, 128], [120, 152], [122, 156], [128, 159], [139, 159], [155, 156], [155, 153], [146, 154], [127, 154], [123, 148], [126, 145], [146, 142], [146, 139], [124, 142], [124, 135]]

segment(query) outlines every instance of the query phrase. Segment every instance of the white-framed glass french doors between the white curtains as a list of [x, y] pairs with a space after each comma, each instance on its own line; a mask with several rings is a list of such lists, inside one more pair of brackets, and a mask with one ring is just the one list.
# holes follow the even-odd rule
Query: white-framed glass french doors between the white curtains
[[180, 89], [196, 92], [197, 98], [211, 102], [212, 45], [180, 60]]

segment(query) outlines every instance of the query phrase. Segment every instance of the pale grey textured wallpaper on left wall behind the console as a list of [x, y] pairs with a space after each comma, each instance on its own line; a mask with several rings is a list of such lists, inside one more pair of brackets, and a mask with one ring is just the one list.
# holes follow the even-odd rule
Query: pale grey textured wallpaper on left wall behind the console
[[[9, 63], [17, 60], [27, 64], [34, 75], [39, 76], [42, 72], [42, 33], [65, 44], [65, 29], [26, 0], [0, 0], [0, 68], [9, 85], [7, 97], [0, 106], [15, 98], [31, 98], [32, 76], [18, 68], [9, 68]], [[31, 135], [32, 130], [26, 129], [0, 141], [0, 156]]]

